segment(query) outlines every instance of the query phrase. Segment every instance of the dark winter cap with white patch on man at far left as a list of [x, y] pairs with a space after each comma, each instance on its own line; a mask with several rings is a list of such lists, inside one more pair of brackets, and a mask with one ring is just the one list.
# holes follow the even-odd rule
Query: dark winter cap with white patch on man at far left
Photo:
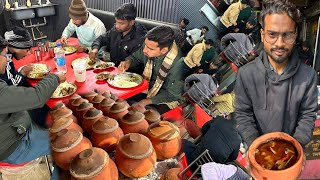
[[17, 49], [29, 49], [33, 46], [33, 40], [26, 29], [14, 27], [11, 31], [4, 33], [4, 38], [8, 41], [9, 47]]

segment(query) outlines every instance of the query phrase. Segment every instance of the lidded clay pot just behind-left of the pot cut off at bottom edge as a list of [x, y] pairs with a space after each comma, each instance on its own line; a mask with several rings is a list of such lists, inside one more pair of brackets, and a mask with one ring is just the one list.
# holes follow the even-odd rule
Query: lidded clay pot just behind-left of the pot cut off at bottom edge
[[70, 162], [76, 155], [91, 147], [91, 142], [82, 133], [69, 129], [58, 132], [51, 142], [52, 157], [64, 170], [69, 170]]

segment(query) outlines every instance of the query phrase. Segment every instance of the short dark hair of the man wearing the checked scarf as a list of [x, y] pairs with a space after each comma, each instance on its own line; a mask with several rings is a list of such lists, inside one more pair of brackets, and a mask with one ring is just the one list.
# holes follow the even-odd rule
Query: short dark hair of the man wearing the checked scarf
[[160, 49], [164, 47], [170, 48], [174, 41], [174, 31], [168, 26], [157, 26], [148, 31], [146, 38], [157, 42]]

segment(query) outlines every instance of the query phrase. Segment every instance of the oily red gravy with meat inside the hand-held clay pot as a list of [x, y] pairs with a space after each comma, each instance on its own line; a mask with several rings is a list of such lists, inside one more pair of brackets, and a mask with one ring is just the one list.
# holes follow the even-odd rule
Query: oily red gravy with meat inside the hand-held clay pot
[[257, 163], [270, 170], [287, 169], [297, 161], [297, 150], [285, 140], [275, 139], [260, 145], [255, 151]]

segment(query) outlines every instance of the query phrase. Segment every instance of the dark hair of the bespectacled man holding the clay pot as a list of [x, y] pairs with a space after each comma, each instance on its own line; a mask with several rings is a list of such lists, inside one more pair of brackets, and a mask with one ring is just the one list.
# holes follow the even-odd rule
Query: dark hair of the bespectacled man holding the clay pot
[[288, 16], [295, 22], [296, 27], [301, 22], [301, 12], [289, 0], [264, 0], [263, 8], [260, 13], [260, 24], [264, 28], [264, 19], [266, 15], [271, 14], [288, 14]]

